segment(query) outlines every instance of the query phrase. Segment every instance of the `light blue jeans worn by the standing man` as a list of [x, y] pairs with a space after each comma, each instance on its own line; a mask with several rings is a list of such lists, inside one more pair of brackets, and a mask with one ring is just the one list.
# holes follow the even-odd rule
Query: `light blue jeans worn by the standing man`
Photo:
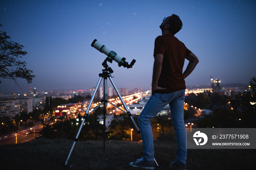
[[185, 89], [168, 94], [154, 93], [148, 100], [138, 117], [139, 128], [143, 142], [143, 158], [147, 163], [154, 162], [154, 143], [151, 120], [167, 104], [170, 106], [173, 127], [176, 132], [177, 153], [176, 160], [186, 164], [187, 135], [184, 123], [184, 98]]

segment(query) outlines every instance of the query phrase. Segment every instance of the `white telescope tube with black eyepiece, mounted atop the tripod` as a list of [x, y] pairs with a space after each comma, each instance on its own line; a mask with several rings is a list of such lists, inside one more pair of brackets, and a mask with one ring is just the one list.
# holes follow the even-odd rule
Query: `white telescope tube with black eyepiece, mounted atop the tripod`
[[132, 68], [132, 66], [136, 62], [136, 60], [133, 59], [132, 62], [128, 64], [128, 62], [125, 61], [125, 58], [121, 58], [116, 54], [116, 52], [110, 51], [108, 48], [106, 48], [105, 45], [100, 43], [97, 39], [95, 39], [93, 43], [91, 43], [91, 46], [97, 49], [99, 52], [106, 54], [108, 56], [108, 61], [110, 63], [112, 63], [113, 60], [116, 61], [119, 67], [124, 66], [127, 67], [127, 69], [129, 69]]

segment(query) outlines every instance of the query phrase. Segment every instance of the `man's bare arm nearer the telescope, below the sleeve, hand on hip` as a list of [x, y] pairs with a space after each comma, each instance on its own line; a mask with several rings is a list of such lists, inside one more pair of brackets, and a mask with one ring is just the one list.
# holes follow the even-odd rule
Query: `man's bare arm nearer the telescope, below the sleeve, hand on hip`
[[156, 54], [154, 67], [153, 67], [153, 76], [152, 76], [152, 93], [154, 93], [155, 90], [166, 89], [166, 88], [161, 88], [157, 86], [158, 80], [162, 71], [162, 63], [163, 63], [163, 54]]

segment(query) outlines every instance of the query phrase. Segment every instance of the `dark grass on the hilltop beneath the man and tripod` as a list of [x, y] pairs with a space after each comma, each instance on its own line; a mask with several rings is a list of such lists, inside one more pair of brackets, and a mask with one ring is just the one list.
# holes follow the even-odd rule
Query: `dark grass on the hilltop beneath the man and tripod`
[[[0, 169], [3, 170], [134, 170], [129, 162], [143, 157], [142, 143], [127, 141], [76, 142], [69, 158], [65, 161], [73, 141], [38, 139], [32, 142], [0, 146]], [[155, 142], [157, 170], [167, 170], [176, 159], [176, 144]], [[188, 149], [188, 169], [195, 170], [244, 170], [255, 169], [256, 150], [253, 149]]]

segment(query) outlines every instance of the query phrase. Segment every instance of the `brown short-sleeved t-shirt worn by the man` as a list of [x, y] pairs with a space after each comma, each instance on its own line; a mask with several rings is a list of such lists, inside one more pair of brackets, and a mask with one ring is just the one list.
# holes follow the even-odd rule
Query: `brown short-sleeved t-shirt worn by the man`
[[186, 89], [182, 69], [185, 57], [191, 53], [187, 47], [172, 34], [158, 36], [155, 39], [154, 57], [163, 54], [162, 71], [158, 86], [165, 90], [156, 90], [154, 93], [172, 93]]

